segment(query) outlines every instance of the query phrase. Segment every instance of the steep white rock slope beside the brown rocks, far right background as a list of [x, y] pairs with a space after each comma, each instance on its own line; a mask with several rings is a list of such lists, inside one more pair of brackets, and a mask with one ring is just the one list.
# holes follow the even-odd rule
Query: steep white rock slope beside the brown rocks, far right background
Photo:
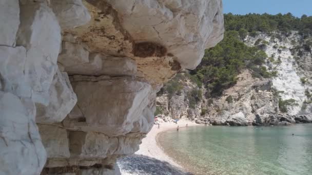
[[[280, 36], [280, 39], [275, 36]], [[295, 100], [296, 105], [287, 106], [287, 114], [310, 114], [312, 104], [308, 94], [312, 89], [310, 82], [312, 70], [306, 67], [310, 65], [312, 55], [303, 49], [297, 52], [297, 48], [303, 47], [305, 39], [298, 32], [292, 31], [287, 37], [277, 32], [271, 36], [259, 33], [256, 37], [248, 36], [245, 42], [249, 46], [255, 46], [259, 39], [267, 42], [264, 51], [271, 61], [267, 60], [266, 67], [270, 71], [277, 72], [277, 76], [271, 78], [272, 88], [280, 92], [282, 100]], [[300, 52], [302, 55], [298, 55]], [[306, 82], [302, 79], [306, 79]]]

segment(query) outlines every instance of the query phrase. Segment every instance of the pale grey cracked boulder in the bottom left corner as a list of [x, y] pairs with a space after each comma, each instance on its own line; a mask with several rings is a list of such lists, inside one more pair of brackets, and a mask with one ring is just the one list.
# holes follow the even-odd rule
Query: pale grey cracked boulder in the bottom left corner
[[0, 174], [40, 174], [46, 151], [34, 122], [34, 104], [0, 91], [0, 111]]

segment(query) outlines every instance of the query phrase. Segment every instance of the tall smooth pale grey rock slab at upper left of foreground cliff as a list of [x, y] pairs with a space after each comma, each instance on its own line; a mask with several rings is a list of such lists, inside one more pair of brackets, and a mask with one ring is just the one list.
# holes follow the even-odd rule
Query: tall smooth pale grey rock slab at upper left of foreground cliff
[[32, 88], [32, 100], [48, 105], [49, 89], [57, 70], [61, 28], [46, 3], [33, 1], [20, 5], [21, 24], [16, 45], [26, 48], [24, 74]]

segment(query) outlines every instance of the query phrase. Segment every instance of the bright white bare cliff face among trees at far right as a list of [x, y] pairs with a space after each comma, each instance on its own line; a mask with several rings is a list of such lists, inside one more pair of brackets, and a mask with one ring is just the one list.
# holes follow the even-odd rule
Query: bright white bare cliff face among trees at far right
[[[305, 77], [298, 68], [298, 64], [295, 60], [296, 55], [292, 55], [290, 49], [293, 49], [300, 42], [301, 36], [298, 32], [292, 32], [288, 37], [282, 36], [282, 40], [275, 39], [271, 40], [271, 37], [266, 34], [260, 34], [253, 38], [248, 36], [246, 42], [253, 46], [255, 42], [259, 39], [264, 39], [268, 41], [269, 44], [265, 48], [265, 52], [268, 57], [275, 55], [273, 58], [278, 61], [280, 58], [280, 63], [269, 63], [268, 66], [272, 67], [271, 71], [277, 71], [278, 76], [272, 78], [272, 86], [281, 91], [279, 94], [283, 100], [295, 99], [298, 105], [288, 106], [289, 115], [300, 115], [302, 113], [302, 105], [305, 100], [309, 100], [305, 91], [307, 89], [312, 89], [312, 86], [308, 83], [304, 84], [301, 82], [300, 78]], [[294, 40], [297, 44], [292, 44], [291, 41]], [[277, 46], [277, 47], [275, 47]], [[281, 50], [281, 52], [279, 52]]]

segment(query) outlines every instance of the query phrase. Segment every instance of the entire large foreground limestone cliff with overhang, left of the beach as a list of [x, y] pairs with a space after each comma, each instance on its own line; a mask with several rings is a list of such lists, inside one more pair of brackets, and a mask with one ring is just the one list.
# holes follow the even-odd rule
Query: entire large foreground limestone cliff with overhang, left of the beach
[[0, 174], [119, 174], [156, 92], [224, 31], [221, 0], [0, 4]]

